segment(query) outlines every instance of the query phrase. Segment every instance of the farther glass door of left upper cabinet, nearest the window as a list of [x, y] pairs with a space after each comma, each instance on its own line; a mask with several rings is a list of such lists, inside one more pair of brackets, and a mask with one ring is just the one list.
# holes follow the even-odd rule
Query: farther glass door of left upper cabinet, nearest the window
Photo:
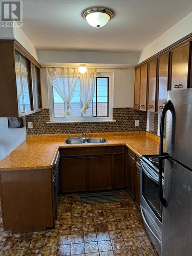
[[34, 110], [41, 109], [41, 91], [40, 91], [40, 72], [39, 68], [31, 65], [32, 69], [32, 90], [33, 90], [33, 108]]

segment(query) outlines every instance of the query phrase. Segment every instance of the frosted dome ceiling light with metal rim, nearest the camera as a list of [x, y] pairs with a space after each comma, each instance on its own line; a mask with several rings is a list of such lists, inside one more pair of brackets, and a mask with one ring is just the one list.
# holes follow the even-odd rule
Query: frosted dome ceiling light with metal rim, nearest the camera
[[109, 22], [114, 14], [109, 9], [96, 7], [84, 10], [82, 16], [92, 27], [101, 28]]

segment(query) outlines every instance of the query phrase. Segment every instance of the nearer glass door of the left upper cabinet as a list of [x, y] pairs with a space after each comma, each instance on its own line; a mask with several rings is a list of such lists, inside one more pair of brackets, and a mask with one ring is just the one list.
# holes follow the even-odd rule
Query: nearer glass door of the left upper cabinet
[[24, 112], [29, 112], [32, 110], [29, 61], [21, 54], [20, 54], [20, 70], [22, 74]]

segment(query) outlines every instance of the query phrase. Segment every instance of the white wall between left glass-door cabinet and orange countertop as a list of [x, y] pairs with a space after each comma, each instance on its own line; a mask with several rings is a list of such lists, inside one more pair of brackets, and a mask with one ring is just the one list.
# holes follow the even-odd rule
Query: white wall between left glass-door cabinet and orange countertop
[[[25, 120], [24, 120], [25, 121]], [[26, 138], [26, 127], [9, 129], [7, 118], [0, 118], [0, 160], [11, 153]]]

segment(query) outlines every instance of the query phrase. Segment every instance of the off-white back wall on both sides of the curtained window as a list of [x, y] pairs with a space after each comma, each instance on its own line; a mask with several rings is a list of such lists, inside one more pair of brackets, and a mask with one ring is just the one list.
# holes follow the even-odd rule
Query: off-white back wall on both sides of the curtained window
[[[113, 70], [110, 70], [110, 72]], [[104, 72], [104, 69], [102, 69]], [[109, 70], [106, 70], [109, 72]], [[42, 108], [49, 108], [45, 69], [41, 69]], [[132, 108], [134, 101], [134, 69], [114, 70], [114, 108]]]

